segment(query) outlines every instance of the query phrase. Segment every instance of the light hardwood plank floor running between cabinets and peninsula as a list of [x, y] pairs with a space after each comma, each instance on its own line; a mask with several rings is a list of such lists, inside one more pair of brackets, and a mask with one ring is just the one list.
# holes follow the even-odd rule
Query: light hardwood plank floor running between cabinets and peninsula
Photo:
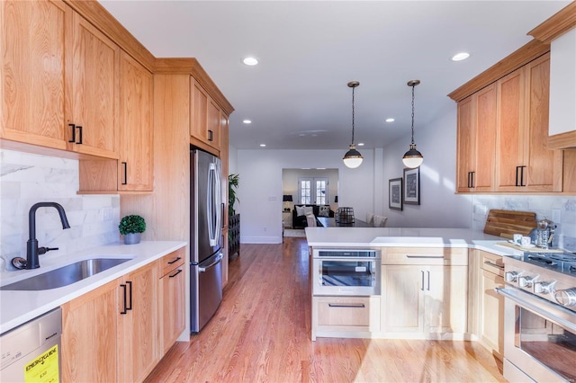
[[148, 382], [505, 381], [478, 343], [312, 342], [305, 239], [241, 250], [211, 322], [190, 343], [176, 343]]

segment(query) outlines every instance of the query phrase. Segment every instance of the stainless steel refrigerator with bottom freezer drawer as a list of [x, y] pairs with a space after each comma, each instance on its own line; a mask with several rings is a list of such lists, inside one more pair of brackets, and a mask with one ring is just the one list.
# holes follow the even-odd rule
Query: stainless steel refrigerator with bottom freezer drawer
[[222, 218], [220, 159], [190, 151], [190, 322], [198, 333], [222, 301]]

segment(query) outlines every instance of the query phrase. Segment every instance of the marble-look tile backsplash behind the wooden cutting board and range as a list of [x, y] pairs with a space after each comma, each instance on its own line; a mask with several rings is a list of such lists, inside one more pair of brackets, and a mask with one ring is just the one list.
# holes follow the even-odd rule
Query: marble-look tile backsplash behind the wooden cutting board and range
[[[554, 246], [576, 252], [576, 197], [543, 195], [473, 195], [473, 229], [483, 230], [490, 209], [533, 211], [558, 227]], [[559, 217], [559, 218], [558, 218]]]

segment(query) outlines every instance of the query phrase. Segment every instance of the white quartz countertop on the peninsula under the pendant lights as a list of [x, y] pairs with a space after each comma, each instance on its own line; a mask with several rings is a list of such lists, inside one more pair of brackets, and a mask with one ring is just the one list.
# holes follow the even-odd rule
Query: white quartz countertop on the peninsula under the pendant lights
[[467, 247], [499, 255], [523, 253], [496, 245], [506, 238], [467, 228], [306, 227], [306, 239], [313, 247]]

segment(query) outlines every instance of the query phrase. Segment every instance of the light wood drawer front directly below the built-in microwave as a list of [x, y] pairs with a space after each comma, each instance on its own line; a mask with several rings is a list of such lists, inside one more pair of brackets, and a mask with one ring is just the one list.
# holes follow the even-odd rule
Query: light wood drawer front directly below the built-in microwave
[[314, 297], [318, 325], [376, 325], [379, 323], [379, 300], [379, 297]]

